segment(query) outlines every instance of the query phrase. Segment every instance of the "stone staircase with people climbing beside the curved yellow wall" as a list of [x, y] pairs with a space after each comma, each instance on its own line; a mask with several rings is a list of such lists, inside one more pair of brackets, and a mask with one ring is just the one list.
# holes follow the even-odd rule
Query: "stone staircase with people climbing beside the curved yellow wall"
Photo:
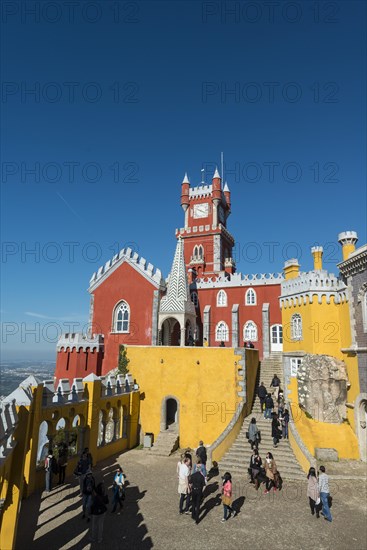
[[264, 382], [266, 389], [270, 392], [270, 383], [273, 375], [277, 374], [283, 386], [283, 365], [282, 353], [272, 353], [270, 357], [262, 360], [258, 382], [256, 384], [256, 397], [251, 410], [251, 413], [245, 418], [237, 439], [232, 447], [227, 451], [219, 463], [221, 472], [229, 471], [234, 477], [246, 477], [247, 469], [250, 464], [252, 454], [251, 446], [246, 438], [251, 418], [256, 418], [256, 424], [261, 432], [261, 442], [259, 444], [259, 454], [265, 461], [267, 452], [271, 452], [277, 463], [279, 472], [283, 479], [305, 479], [305, 473], [297, 462], [297, 459], [292, 451], [288, 440], [281, 439], [278, 447], [273, 447], [273, 439], [271, 437], [271, 420], [265, 420], [260, 409], [260, 400], [257, 397], [257, 387], [260, 382]]

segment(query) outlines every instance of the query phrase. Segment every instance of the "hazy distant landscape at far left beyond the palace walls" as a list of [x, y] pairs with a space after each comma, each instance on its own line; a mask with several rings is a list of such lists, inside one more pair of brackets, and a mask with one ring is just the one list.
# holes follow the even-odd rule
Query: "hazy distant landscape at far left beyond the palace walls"
[[55, 361], [1, 361], [0, 396], [7, 396], [33, 374], [41, 382], [53, 378]]

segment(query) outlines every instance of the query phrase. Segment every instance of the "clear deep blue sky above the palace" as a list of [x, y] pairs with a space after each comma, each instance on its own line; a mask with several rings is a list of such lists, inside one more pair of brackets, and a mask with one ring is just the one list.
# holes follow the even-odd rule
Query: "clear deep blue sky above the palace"
[[37, 4], [2, 6], [3, 359], [53, 358], [120, 248], [167, 275], [221, 151], [239, 271], [365, 242], [363, 2]]

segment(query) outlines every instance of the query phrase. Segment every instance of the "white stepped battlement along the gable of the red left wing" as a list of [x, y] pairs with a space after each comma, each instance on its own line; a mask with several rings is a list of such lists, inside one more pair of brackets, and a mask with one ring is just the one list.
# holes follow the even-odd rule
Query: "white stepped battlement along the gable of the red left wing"
[[154, 267], [153, 264], [147, 263], [143, 256], [139, 256], [137, 252], [133, 252], [130, 247], [123, 248], [119, 254], [115, 254], [111, 260], [101, 266], [97, 272], [93, 273], [89, 281], [89, 292], [98, 286], [110, 273], [112, 273], [123, 262], [127, 261], [134, 266], [146, 279], [152, 282], [155, 286], [164, 288], [164, 279], [161, 270]]

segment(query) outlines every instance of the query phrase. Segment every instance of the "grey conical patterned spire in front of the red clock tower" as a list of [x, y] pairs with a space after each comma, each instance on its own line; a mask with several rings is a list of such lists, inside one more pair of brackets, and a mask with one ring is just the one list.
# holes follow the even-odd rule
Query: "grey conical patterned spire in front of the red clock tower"
[[184, 241], [181, 236], [177, 239], [176, 252], [168, 280], [167, 294], [161, 300], [160, 311], [165, 313], [195, 314], [195, 306], [191, 301], [187, 283]]

